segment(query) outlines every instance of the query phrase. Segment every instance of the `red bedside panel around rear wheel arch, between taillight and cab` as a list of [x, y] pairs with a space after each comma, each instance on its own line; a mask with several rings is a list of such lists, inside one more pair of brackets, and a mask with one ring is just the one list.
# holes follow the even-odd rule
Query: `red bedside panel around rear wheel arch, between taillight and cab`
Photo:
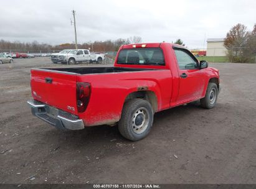
[[88, 82], [92, 87], [87, 109], [79, 114], [86, 126], [119, 121], [126, 96], [138, 91], [138, 86], [147, 86], [156, 94], [158, 111], [169, 108], [170, 70], [77, 75], [77, 82]]

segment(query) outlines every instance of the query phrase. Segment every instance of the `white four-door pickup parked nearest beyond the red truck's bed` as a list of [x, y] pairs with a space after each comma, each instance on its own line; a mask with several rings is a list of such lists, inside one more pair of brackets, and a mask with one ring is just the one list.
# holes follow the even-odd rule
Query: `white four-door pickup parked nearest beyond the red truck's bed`
[[77, 62], [97, 62], [102, 63], [102, 60], [105, 59], [103, 53], [91, 53], [87, 49], [73, 49], [69, 53], [59, 54], [58, 62], [75, 64]]

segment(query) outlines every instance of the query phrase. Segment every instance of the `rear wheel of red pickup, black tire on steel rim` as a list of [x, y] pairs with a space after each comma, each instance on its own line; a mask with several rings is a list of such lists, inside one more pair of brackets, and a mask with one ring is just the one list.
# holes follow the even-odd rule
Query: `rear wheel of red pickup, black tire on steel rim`
[[[148, 135], [153, 118], [153, 109], [148, 101], [140, 98], [130, 99], [123, 106], [118, 123], [119, 132], [130, 141], [139, 141]], [[138, 126], [141, 127], [138, 128]]]

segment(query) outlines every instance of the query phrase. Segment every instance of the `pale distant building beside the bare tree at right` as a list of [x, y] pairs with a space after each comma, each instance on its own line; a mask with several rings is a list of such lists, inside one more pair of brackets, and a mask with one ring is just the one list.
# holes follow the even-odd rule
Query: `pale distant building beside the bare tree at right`
[[227, 48], [224, 46], [224, 38], [207, 39], [206, 56], [208, 57], [224, 57], [227, 54]]

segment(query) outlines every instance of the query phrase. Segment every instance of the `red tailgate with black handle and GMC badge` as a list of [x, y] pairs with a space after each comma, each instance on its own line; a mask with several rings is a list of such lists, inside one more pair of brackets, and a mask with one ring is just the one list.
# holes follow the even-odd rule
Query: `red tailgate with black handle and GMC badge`
[[31, 93], [34, 99], [77, 114], [77, 76], [53, 70], [31, 70]]

